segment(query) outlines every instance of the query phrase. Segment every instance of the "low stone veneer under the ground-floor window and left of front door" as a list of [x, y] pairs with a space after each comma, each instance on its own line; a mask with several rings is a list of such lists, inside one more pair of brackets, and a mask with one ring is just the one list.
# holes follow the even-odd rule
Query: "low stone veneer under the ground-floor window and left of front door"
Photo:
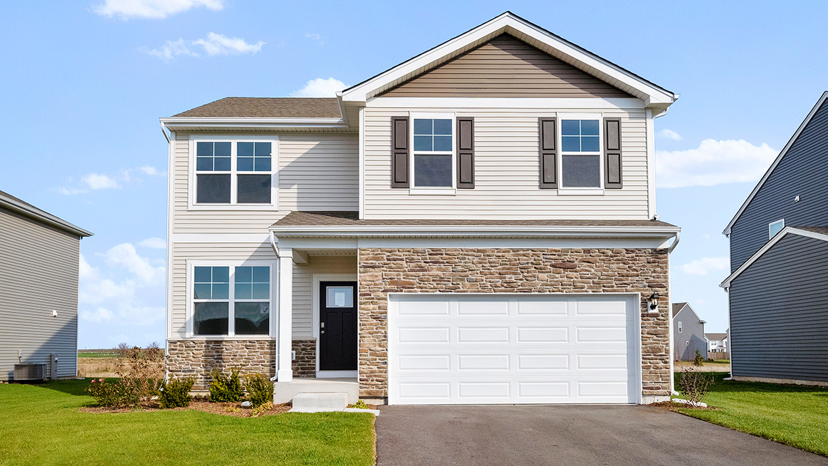
[[[293, 349], [293, 377], [315, 377], [316, 340], [293, 340]], [[241, 374], [273, 377], [276, 354], [273, 340], [170, 340], [166, 368], [171, 376], [195, 377], [193, 389], [206, 390], [213, 368], [223, 372], [239, 368]]]

